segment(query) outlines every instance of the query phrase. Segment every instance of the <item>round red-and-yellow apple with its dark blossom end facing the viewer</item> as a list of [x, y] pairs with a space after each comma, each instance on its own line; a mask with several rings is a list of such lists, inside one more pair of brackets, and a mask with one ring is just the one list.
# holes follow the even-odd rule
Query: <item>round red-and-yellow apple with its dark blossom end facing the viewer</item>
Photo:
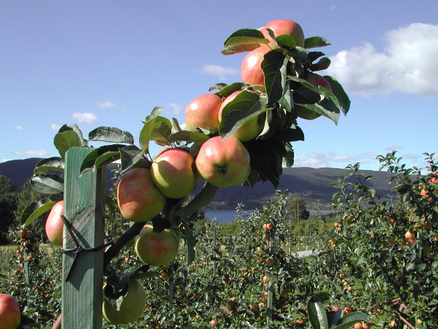
[[199, 177], [218, 187], [239, 185], [248, 177], [250, 157], [247, 149], [235, 137], [208, 139], [195, 160]]

